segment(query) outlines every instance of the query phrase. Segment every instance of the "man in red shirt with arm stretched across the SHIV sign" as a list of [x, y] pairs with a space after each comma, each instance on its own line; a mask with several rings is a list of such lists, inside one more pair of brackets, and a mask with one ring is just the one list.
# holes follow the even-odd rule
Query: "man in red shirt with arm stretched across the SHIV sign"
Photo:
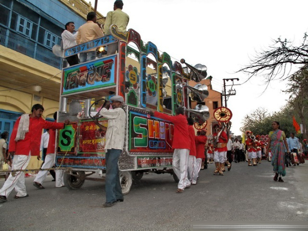
[[177, 193], [182, 193], [185, 187], [190, 187], [190, 182], [187, 178], [190, 138], [188, 133], [187, 120], [184, 115], [184, 108], [178, 107], [176, 109], [175, 116], [167, 115], [158, 111], [151, 111], [151, 114], [163, 120], [170, 121], [175, 125], [174, 139], [172, 140], [172, 148], [175, 149], [172, 158], [172, 167], [175, 174], [180, 179]]

